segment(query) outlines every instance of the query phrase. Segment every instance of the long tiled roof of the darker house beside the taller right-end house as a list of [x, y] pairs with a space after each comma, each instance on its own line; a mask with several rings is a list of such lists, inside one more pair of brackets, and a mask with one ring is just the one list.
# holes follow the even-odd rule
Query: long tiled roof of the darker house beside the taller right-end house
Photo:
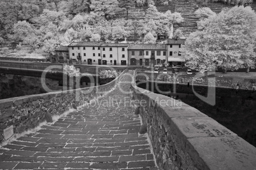
[[131, 44], [128, 50], [166, 50], [164, 44]]

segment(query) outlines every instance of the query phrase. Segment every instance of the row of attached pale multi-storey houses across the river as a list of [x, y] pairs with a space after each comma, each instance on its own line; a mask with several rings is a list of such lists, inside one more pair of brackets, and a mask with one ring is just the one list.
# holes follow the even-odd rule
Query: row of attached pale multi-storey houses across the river
[[176, 66], [184, 64], [180, 53], [184, 43], [185, 39], [167, 39], [166, 44], [80, 41], [68, 45], [68, 53], [69, 59], [76, 64], [152, 67], [169, 62], [170, 66]]

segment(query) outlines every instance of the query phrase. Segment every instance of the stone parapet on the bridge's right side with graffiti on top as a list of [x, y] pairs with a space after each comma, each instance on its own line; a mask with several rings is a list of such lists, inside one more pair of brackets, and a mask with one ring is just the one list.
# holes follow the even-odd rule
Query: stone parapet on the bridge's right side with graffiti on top
[[234, 132], [181, 101], [131, 89], [160, 169], [255, 169], [256, 148]]

